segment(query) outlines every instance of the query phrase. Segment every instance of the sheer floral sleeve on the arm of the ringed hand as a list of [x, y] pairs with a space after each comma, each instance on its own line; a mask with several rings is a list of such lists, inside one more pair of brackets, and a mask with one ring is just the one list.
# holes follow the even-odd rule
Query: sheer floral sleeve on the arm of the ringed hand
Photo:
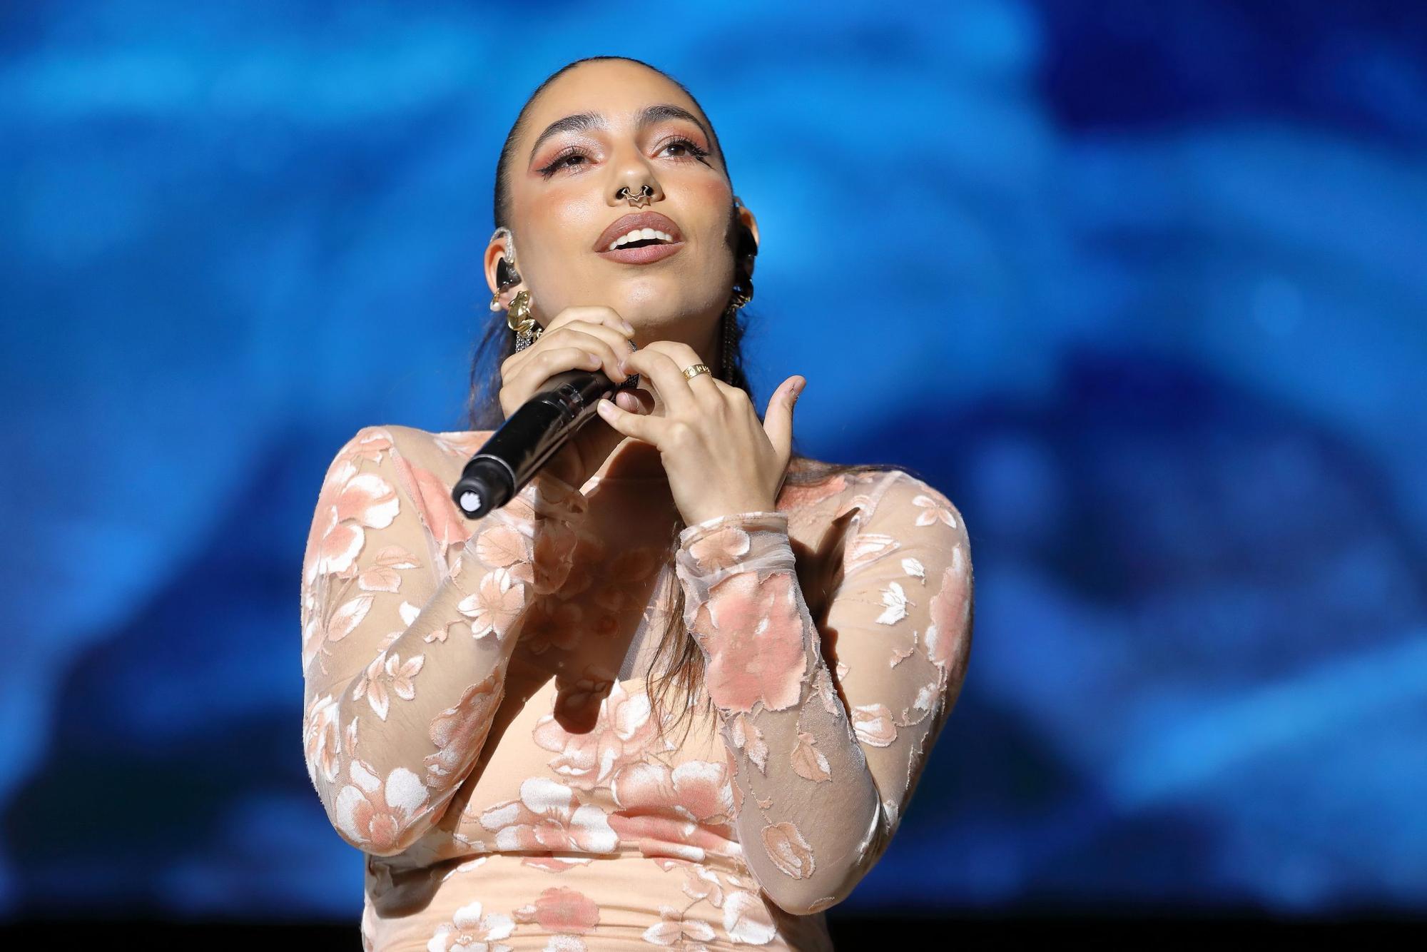
[[841, 678], [795, 574], [786, 514], [691, 525], [676, 555], [743, 856], [793, 915], [841, 902], [882, 856], [970, 651], [970, 544], [950, 501], [893, 471], [852, 505], [825, 624]]

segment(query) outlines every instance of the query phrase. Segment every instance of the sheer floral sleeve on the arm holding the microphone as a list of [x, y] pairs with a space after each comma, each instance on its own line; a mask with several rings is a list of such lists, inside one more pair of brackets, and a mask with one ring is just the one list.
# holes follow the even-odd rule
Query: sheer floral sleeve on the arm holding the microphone
[[342, 839], [378, 856], [431, 829], [475, 765], [519, 622], [565, 581], [585, 514], [541, 474], [467, 520], [397, 445], [408, 430], [367, 427], [337, 452], [303, 557], [308, 776]]

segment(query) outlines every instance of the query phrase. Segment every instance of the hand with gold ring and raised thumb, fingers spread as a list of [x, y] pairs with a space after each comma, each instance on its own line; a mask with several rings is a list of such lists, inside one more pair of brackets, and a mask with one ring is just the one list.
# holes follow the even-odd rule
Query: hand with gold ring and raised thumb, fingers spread
[[793, 401], [808, 380], [793, 375], [768, 398], [763, 420], [738, 387], [684, 368], [702, 363], [688, 344], [651, 341], [624, 365], [658, 391], [664, 415], [629, 412], [608, 400], [599, 415], [626, 437], [654, 444], [685, 525], [719, 515], [773, 511], [792, 457]]

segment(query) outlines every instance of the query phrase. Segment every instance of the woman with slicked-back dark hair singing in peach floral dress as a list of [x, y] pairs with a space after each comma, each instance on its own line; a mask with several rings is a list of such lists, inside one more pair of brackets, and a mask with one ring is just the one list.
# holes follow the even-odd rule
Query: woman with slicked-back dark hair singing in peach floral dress
[[[498, 407], [358, 431], [304, 557], [307, 766], [367, 854], [365, 948], [831, 948], [960, 691], [960, 514], [793, 454], [802, 377], [755, 411], [758, 226], [661, 71], [547, 80], [495, 217]], [[575, 367], [639, 385], [464, 520], [469, 455]]]

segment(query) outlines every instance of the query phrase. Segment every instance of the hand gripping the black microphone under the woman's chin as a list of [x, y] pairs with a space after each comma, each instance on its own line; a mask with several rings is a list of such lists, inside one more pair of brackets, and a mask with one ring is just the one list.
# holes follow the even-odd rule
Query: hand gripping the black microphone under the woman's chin
[[[501, 361], [501, 412], [509, 420], [545, 381], [567, 370], [598, 370], [622, 384], [629, 375], [619, 370], [619, 361], [634, 353], [632, 335], [634, 327], [611, 307], [567, 307], [534, 344]], [[652, 397], [649, 400], [652, 404]], [[615, 404], [631, 412], [651, 408], [634, 390], [619, 391]], [[624, 435], [596, 414], [565, 441], [542, 471], [578, 490], [621, 441]]]

